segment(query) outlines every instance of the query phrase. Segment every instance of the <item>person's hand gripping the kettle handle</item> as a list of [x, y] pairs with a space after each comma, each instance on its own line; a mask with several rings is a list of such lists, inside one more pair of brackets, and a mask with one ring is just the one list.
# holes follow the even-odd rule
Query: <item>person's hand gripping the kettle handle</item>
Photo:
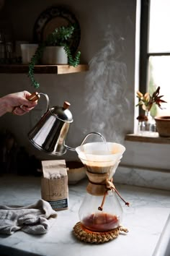
[[0, 116], [6, 112], [12, 112], [16, 115], [22, 116], [23, 114], [31, 111], [32, 108], [35, 108], [37, 105], [37, 101], [27, 100], [27, 97], [30, 95], [31, 93], [24, 90], [23, 92], [11, 93], [2, 97], [0, 99]]

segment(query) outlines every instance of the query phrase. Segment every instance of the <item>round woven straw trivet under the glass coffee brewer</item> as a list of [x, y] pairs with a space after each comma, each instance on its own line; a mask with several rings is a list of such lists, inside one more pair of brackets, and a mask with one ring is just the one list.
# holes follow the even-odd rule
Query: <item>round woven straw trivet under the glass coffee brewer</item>
[[112, 229], [110, 231], [95, 232], [86, 229], [81, 224], [81, 222], [76, 223], [76, 225], [73, 227], [73, 233], [79, 240], [91, 244], [108, 242], [109, 240], [115, 239], [120, 234], [120, 232], [128, 233], [128, 229], [119, 226], [118, 228]]

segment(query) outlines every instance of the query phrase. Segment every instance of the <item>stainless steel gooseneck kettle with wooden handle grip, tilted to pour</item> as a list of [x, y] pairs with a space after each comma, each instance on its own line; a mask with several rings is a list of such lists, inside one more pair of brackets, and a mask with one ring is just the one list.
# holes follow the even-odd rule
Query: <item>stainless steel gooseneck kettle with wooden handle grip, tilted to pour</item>
[[[73, 122], [73, 116], [68, 109], [70, 103], [65, 101], [63, 106], [53, 106], [49, 108], [49, 98], [45, 93], [33, 93], [30, 95], [30, 101], [37, 101], [40, 95], [44, 95], [47, 100], [47, 108], [45, 114], [42, 115], [40, 121], [35, 124], [30, 132], [28, 138], [30, 142], [39, 150], [45, 151], [50, 155], [63, 155], [66, 150], [76, 151], [76, 148], [71, 148], [66, 145], [66, 136], [70, 124]], [[81, 145], [89, 135], [99, 135], [104, 141], [104, 137], [98, 132], [89, 132]]]

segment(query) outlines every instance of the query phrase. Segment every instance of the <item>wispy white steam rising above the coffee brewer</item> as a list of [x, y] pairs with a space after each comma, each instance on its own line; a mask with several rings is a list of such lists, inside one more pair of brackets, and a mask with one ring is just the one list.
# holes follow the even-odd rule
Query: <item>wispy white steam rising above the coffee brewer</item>
[[86, 109], [84, 116], [88, 122], [87, 132], [100, 132], [107, 141], [121, 142], [127, 115], [128, 100], [127, 68], [119, 61], [124, 51], [124, 38], [118, 38], [120, 50], [115, 55], [115, 40], [111, 27], [104, 36], [104, 47], [89, 63], [85, 81]]

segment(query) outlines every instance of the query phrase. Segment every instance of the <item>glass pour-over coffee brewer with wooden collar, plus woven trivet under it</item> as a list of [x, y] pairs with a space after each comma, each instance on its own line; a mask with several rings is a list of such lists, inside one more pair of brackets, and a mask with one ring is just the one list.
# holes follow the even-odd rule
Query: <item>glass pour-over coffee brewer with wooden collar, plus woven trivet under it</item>
[[98, 244], [114, 239], [120, 231], [127, 233], [120, 226], [122, 207], [117, 195], [123, 198], [112, 183], [125, 147], [113, 142], [92, 142], [79, 146], [76, 152], [86, 166], [89, 184], [79, 209], [80, 222], [73, 227], [74, 234], [81, 241]]

